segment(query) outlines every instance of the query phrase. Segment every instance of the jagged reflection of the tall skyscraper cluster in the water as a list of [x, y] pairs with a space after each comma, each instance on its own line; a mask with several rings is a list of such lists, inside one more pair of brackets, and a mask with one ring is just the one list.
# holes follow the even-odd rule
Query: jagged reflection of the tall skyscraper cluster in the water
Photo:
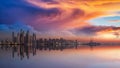
[[36, 55], [36, 48], [34, 46], [29, 45], [13, 45], [12, 46], [12, 57], [14, 58], [15, 53], [20, 57], [22, 60], [25, 56], [29, 59], [30, 53]]

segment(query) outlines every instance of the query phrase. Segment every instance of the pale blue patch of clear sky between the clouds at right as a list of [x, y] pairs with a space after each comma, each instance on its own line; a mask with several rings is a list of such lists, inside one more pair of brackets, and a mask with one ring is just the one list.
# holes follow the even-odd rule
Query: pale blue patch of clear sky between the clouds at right
[[120, 27], [120, 16], [111, 17], [98, 17], [93, 20], [88, 21], [93, 25], [97, 26], [115, 26]]

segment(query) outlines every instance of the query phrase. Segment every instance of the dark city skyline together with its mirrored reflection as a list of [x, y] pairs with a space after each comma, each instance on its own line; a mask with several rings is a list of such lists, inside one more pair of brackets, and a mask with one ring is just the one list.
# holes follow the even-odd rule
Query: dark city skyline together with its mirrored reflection
[[2, 40], [0, 42], [0, 47], [8, 49], [12, 48], [12, 56], [14, 58], [15, 53], [23, 59], [25, 56], [29, 58], [30, 53], [36, 55], [36, 49], [38, 50], [63, 50], [66, 48], [77, 48], [77, 40], [65, 40], [63, 38], [59, 39], [36, 39], [36, 34], [30, 34], [29, 31], [25, 32], [20, 30], [20, 32], [15, 35], [12, 32], [12, 40]]

